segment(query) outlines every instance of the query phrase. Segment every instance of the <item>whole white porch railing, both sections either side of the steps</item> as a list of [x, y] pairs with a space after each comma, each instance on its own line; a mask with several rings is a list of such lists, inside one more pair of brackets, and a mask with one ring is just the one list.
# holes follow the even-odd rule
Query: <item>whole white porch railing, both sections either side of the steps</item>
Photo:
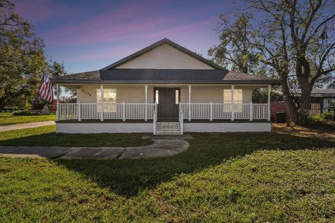
[[[269, 118], [268, 104], [232, 104], [224, 103], [179, 103], [179, 121], [188, 119], [224, 120], [248, 119], [264, 120]], [[154, 103], [59, 103], [59, 120], [77, 119], [119, 119], [149, 120], [157, 118]], [[101, 112], [103, 109], [103, 112]], [[156, 115], [156, 117], [154, 117]], [[101, 117], [103, 116], [103, 117]], [[269, 120], [269, 119], [268, 119]]]

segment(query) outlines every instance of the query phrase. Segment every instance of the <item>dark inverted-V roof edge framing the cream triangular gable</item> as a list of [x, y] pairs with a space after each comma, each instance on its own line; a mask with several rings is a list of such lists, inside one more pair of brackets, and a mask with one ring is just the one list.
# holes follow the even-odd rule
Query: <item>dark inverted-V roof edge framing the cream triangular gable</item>
[[207, 64], [208, 66], [210, 66], [211, 68], [214, 68], [216, 70], [226, 70], [225, 68], [222, 68], [221, 66], [218, 66], [216, 63], [213, 63], [207, 59], [204, 59], [204, 57], [196, 54], [195, 52], [192, 52], [189, 49], [186, 49], [185, 47], [182, 47], [181, 45], [178, 45], [177, 43], [174, 43], [173, 41], [169, 40], [168, 38], [163, 38], [163, 40], [159, 40], [158, 42], [149, 45], [149, 47], [145, 47], [129, 56], [126, 56], [124, 59], [121, 59], [115, 63], [112, 63], [110, 66], [107, 66], [101, 70], [111, 70], [113, 68], [116, 68], [118, 66], [121, 66], [124, 63], [127, 63], [128, 61], [131, 61], [133, 59], [135, 59], [138, 56], [141, 56], [149, 51], [151, 51], [152, 49], [155, 49], [163, 44], [167, 44], [170, 45], [171, 47], [174, 47], [175, 49], [178, 49], [179, 51], [183, 52], [184, 54], [187, 54], [188, 56], [193, 57], [194, 59], [197, 59], [198, 61], [201, 61], [202, 63]]

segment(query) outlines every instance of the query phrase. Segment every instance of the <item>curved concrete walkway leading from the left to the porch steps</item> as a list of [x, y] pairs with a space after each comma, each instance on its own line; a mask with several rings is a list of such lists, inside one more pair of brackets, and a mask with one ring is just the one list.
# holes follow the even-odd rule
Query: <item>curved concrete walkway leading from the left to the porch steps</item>
[[59, 159], [139, 159], [176, 155], [188, 149], [184, 139], [154, 139], [154, 144], [135, 147], [59, 147], [59, 146], [0, 146], [4, 157], [50, 157]]

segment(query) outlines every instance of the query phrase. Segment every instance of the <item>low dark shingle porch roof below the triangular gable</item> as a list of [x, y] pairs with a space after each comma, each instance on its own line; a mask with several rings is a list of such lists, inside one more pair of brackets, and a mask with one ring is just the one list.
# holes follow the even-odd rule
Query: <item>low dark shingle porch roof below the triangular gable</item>
[[281, 81], [228, 70], [112, 69], [52, 79], [61, 84], [281, 84]]

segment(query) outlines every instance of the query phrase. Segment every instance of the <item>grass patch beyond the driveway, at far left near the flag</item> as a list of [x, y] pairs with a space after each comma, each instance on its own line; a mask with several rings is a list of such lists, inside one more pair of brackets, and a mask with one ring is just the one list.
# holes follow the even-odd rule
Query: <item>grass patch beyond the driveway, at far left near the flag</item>
[[12, 125], [20, 123], [37, 123], [40, 121], [54, 121], [56, 120], [55, 114], [47, 116], [12, 116], [11, 113], [2, 112], [0, 114], [0, 126]]

